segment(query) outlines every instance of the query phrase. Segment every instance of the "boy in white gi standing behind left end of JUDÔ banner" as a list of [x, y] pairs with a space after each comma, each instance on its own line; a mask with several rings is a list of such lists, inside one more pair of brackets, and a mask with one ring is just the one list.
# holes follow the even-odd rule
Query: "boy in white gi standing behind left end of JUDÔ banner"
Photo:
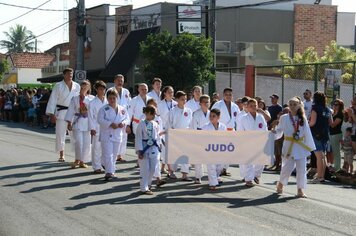
[[[176, 100], [177, 106], [169, 112], [169, 128], [171, 129], [189, 129], [192, 121], [192, 110], [185, 106], [187, 102], [187, 94], [183, 91], [177, 91]], [[175, 169], [175, 168], [173, 168]], [[182, 181], [193, 181], [188, 178], [189, 164], [181, 165]], [[173, 172], [169, 173], [170, 178], [176, 178]]]

